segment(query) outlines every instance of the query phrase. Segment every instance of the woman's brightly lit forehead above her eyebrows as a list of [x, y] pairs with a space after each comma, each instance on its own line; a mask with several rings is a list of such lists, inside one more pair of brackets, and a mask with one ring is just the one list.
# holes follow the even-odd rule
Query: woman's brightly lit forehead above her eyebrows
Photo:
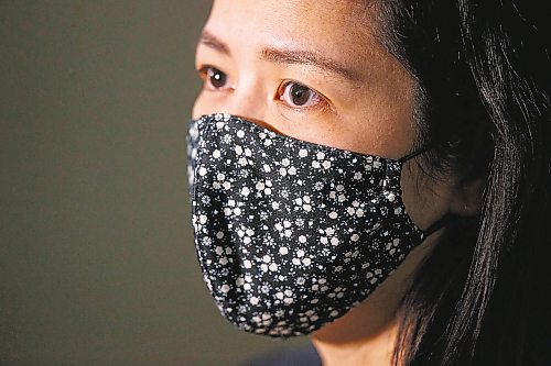
[[233, 48], [296, 46], [361, 68], [388, 56], [374, 36], [367, 1], [216, 0], [207, 25]]

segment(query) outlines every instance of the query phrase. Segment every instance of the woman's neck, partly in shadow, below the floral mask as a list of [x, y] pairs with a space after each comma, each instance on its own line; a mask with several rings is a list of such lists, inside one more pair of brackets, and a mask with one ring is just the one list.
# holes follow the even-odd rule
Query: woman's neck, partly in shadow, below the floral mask
[[392, 365], [400, 325], [397, 311], [432, 240], [413, 249], [360, 304], [311, 335], [324, 366]]

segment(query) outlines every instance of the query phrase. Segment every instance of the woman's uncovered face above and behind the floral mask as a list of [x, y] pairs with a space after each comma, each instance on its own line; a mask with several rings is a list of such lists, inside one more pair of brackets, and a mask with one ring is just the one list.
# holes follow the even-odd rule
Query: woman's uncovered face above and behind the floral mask
[[[193, 118], [225, 112], [357, 153], [411, 153], [415, 81], [360, 3], [216, 0], [197, 45], [204, 88]], [[425, 229], [449, 210], [454, 184], [415, 185], [417, 173], [402, 174], [403, 200]]]

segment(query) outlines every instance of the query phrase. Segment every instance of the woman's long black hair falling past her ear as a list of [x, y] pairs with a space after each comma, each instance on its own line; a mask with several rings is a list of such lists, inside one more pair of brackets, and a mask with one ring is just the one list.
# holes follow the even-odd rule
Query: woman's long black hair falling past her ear
[[[512, 0], [380, 0], [380, 42], [418, 80], [423, 166], [482, 179], [404, 297], [395, 363], [551, 362], [551, 16]], [[372, 5], [372, 2], [371, 2]]]

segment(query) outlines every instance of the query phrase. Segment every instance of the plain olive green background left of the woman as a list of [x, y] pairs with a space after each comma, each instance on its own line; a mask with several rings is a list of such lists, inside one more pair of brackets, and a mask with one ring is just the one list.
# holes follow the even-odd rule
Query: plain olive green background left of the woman
[[206, 0], [0, 0], [0, 365], [236, 365], [193, 248]]

